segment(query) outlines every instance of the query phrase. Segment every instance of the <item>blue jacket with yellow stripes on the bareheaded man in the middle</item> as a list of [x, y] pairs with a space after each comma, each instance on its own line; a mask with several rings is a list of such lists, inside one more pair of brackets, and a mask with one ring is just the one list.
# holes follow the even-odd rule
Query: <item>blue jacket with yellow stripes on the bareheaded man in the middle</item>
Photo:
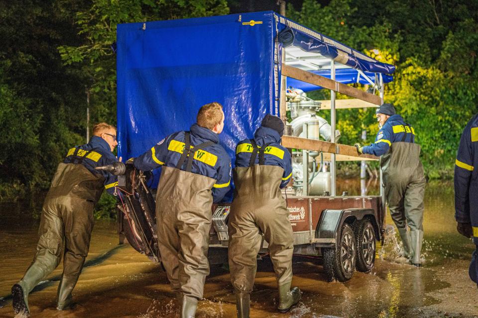
[[[169, 135], [154, 145], [150, 150], [134, 159], [133, 164], [139, 170], [152, 170], [162, 165], [175, 168], [184, 150], [184, 131]], [[213, 200], [218, 203], [230, 190], [231, 184], [231, 158], [224, 148], [219, 145], [219, 135], [213, 131], [194, 124], [190, 131], [191, 146], [212, 141], [208, 146], [195, 153], [192, 173], [216, 179], [213, 186]], [[181, 167], [186, 170], [187, 160]]]

